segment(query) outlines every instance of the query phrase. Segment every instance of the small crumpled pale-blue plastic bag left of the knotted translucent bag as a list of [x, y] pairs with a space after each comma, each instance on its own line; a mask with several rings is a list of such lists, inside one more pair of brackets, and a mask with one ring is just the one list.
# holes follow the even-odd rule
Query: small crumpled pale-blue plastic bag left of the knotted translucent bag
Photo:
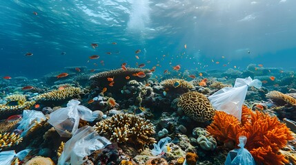
[[35, 125], [35, 121], [41, 122], [41, 120], [46, 120], [46, 116], [41, 111], [23, 110], [23, 118], [19, 121], [19, 126], [17, 126], [17, 129], [23, 130], [21, 137], [25, 136], [27, 131]]

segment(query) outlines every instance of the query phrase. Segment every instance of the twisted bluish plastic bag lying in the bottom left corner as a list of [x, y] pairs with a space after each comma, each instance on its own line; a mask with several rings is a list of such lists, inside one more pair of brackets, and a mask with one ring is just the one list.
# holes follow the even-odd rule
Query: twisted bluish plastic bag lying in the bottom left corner
[[18, 157], [20, 160], [26, 157], [30, 153], [30, 149], [25, 149], [15, 153], [15, 151], [2, 151], [0, 153], [0, 164], [6, 165], [11, 164], [15, 157]]

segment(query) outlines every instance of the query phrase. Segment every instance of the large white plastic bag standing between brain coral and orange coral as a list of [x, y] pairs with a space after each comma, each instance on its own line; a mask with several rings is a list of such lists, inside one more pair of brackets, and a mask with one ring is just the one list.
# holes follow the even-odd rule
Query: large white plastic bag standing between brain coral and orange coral
[[208, 97], [214, 109], [225, 111], [241, 120], [241, 107], [246, 98], [248, 87], [259, 89], [262, 87], [260, 80], [252, 78], [237, 78], [234, 87], [224, 87]]

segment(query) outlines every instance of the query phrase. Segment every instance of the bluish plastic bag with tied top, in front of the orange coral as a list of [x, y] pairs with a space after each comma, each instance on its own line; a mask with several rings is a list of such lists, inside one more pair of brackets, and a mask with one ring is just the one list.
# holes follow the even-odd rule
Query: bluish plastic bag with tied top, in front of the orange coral
[[255, 165], [255, 160], [250, 152], [244, 148], [246, 144], [246, 136], [239, 136], [239, 146], [240, 148], [234, 149], [229, 151], [225, 165], [234, 165], [234, 164], [241, 164], [241, 165]]

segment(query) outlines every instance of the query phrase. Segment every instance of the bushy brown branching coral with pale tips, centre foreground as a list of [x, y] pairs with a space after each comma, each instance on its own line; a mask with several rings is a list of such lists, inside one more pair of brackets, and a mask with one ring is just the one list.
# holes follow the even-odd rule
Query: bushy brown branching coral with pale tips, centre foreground
[[151, 137], [155, 134], [153, 124], [133, 114], [113, 115], [111, 118], [97, 122], [94, 128], [99, 134], [106, 133], [112, 142], [130, 142], [139, 149], [156, 142]]

